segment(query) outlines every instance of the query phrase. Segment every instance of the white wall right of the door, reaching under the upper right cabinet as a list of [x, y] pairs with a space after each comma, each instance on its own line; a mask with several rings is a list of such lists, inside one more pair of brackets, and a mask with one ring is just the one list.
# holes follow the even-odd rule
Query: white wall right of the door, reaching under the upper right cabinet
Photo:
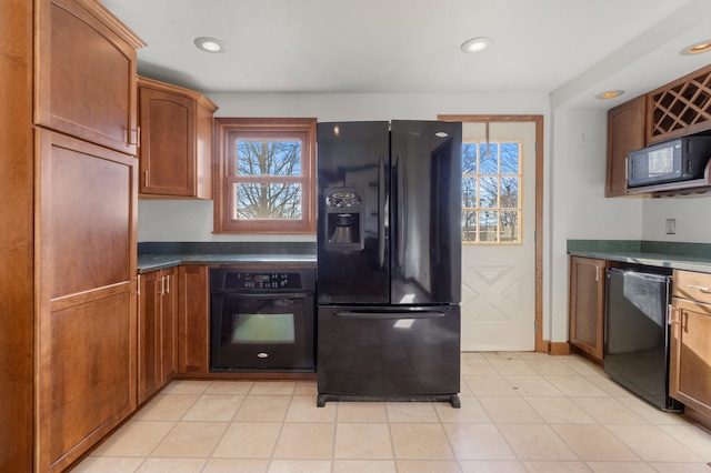
[[[543, 339], [568, 340], [568, 240], [640, 240], [642, 199], [604, 198], [607, 112], [557, 109], [553, 114], [551, 182], [547, 185], [550, 250], [547, 250]], [[547, 265], [545, 265], [547, 264]], [[547, 324], [550, 322], [550, 324]]]

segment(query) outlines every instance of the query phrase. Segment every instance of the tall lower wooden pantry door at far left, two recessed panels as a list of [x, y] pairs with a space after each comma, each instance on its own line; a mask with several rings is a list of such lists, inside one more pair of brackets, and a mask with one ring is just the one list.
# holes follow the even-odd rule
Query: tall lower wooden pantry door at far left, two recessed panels
[[36, 470], [61, 471], [136, 409], [137, 163], [38, 133]]

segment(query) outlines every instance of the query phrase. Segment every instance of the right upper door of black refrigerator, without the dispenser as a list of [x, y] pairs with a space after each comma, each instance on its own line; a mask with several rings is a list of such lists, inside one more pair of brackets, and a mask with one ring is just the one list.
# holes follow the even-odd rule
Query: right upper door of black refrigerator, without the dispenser
[[393, 121], [392, 303], [461, 299], [461, 124]]

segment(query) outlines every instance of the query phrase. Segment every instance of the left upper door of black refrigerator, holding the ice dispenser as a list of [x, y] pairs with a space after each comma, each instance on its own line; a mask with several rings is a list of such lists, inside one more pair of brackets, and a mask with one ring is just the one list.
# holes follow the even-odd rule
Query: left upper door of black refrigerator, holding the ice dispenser
[[[388, 122], [318, 125], [319, 303], [390, 301], [384, 220], [389, 144]], [[327, 205], [327, 197], [339, 190], [358, 195], [356, 212]], [[358, 222], [352, 234], [362, 235], [362, 245], [337, 242], [328, 225], [329, 217], [334, 225], [339, 214]]]

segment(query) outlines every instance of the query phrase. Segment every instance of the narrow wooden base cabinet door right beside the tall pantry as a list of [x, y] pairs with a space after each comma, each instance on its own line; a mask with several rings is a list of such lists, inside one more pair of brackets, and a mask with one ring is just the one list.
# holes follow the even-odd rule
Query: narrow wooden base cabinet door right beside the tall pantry
[[161, 386], [161, 272], [140, 275], [138, 312], [138, 402]]

